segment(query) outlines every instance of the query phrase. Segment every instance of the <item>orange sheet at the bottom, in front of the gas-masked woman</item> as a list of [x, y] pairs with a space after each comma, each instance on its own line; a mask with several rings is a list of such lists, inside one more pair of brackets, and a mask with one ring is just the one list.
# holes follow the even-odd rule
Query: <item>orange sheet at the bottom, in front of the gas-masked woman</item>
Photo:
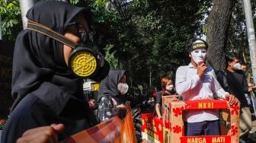
[[126, 103], [126, 116], [120, 119], [114, 116], [97, 126], [78, 132], [60, 143], [84, 143], [84, 142], [114, 142], [135, 143], [135, 129], [133, 124], [133, 113], [130, 103]]

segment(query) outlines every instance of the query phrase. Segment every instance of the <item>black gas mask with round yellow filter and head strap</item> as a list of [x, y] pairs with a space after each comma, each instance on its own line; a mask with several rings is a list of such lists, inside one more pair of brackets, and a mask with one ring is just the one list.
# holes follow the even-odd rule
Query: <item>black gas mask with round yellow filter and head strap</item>
[[78, 78], [90, 78], [94, 81], [103, 80], [109, 72], [110, 65], [104, 59], [98, 46], [92, 42], [85, 27], [77, 22], [72, 22], [69, 26], [77, 28], [81, 43], [73, 43], [62, 34], [34, 21], [28, 21], [27, 23], [27, 29], [43, 33], [47, 37], [72, 47], [73, 50], [69, 56], [69, 69], [74, 75]]

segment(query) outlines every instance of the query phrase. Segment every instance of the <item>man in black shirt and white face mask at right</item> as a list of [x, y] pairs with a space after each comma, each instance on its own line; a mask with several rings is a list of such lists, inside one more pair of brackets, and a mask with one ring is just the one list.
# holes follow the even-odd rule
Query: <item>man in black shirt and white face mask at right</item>
[[251, 130], [251, 111], [246, 100], [245, 94], [256, 90], [256, 86], [248, 87], [244, 71], [241, 70], [241, 64], [238, 56], [230, 54], [226, 56], [226, 69], [219, 71], [217, 79], [219, 84], [231, 94], [234, 94], [240, 102], [240, 138], [241, 141], [247, 140], [248, 133]]

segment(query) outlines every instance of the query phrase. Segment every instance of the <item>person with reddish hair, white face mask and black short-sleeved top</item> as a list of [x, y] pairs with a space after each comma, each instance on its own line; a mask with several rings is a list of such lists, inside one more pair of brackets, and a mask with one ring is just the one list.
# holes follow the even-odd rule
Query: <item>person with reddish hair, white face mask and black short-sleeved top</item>
[[169, 77], [164, 77], [161, 80], [161, 87], [162, 91], [158, 91], [156, 95], [156, 101], [155, 101], [155, 112], [158, 116], [158, 119], [162, 119], [162, 96], [167, 96], [167, 95], [174, 95], [176, 91], [174, 91], [174, 84]]

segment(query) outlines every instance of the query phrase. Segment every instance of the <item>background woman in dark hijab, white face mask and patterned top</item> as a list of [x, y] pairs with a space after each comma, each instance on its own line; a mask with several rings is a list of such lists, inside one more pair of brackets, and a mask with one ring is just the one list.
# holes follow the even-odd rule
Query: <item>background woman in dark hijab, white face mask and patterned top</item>
[[98, 118], [101, 122], [120, 116], [126, 116], [123, 95], [128, 91], [126, 84], [126, 71], [110, 69], [106, 78], [101, 81], [98, 93]]

